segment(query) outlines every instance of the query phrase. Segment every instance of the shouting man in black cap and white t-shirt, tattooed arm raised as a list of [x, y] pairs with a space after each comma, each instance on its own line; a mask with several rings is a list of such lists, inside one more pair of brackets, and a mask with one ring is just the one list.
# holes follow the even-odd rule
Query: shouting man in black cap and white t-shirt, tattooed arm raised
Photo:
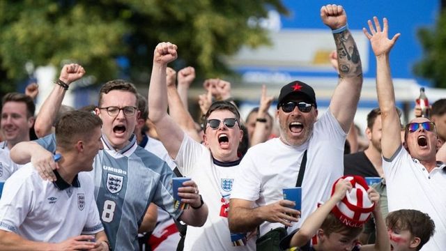
[[[339, 84], [328, 111], [317, 119], [316, 95], [308, 84], [294, 81], [282, 87], [276, 114], [279, 138], [253, 146], [240, 162], [229, 211], [233, 232], [259, 227], [263, 236], [284, 226], [293, 231], [316, 210], [318, 201], [329, 198], [331, 184], [342, 176], [344, 142], [360, 98], [362, 67], [342, 6], [323, 6], [321, 18], [332, 29], [339, 58]], [[302, 184], [296, 184], [298, 174], [304, 174]], [[282, 195], [282, 188], [295, 186], [302, 187], [301, 212]]]

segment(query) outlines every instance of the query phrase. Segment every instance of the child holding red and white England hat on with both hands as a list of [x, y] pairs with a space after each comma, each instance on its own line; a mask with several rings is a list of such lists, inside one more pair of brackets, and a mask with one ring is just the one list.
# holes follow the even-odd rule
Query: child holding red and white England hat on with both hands
[[[332, 197], [309, 215], [300, 229], [286, 236], [280, 243], [281, 248], [298, 247], [302, 251], [390, 250], [387, 227], [378, 203], [378, 192], [369, 188], [362, 176], [339, 178], [333, 184]], [[376, 243], [360, 245], [357, 238], [371, 213], [376, 222]]]

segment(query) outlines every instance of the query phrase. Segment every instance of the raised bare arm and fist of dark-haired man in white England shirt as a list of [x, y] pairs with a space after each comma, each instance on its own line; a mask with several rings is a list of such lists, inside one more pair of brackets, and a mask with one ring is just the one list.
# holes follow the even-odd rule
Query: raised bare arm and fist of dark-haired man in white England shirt
[[184, 132], [167, 114], [167, 63], [177, 58], [176, 45], [159, 43], [153, 52], [151, 84], [148, 88], [148, 118], [155, 124], [158, 137], [171, 158], [176, 158]]

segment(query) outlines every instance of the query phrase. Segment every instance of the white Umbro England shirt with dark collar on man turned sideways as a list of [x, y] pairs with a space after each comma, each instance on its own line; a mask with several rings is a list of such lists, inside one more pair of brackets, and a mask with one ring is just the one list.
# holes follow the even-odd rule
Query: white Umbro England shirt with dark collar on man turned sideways
[[81, 172], [72, 185], [56, 177], [43, 181], [31, 163], [10, 176], [0, 199], [0, 229], [49, 243], [104, 230], [91, 176]]

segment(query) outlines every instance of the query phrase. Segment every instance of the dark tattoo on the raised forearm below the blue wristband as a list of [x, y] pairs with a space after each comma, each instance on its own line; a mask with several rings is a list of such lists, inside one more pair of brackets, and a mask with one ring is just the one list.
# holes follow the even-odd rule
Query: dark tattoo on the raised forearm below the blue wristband
[[361, 77], [362, 66], [360, 54], [350, 31], [346, 30], [341, 33], [335, 33], [333, 36], [334, 43], [336, 43], [337, 47], [339, 73], [341, 77]]

